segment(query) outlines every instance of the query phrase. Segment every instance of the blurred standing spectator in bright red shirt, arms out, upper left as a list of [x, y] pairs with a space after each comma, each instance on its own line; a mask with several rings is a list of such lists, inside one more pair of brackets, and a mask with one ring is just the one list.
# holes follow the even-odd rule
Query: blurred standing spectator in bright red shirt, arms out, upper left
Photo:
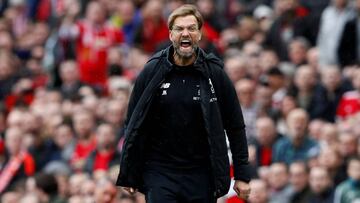
[[85, 19], [76, 24], [64, 23], [59, 34], [63, 40], [76, 39], [76, 59], [80, 81], [105, 87], [107, 81], [107, 49], [123, 42], [123, 33], [106, 24], [106, 10], [102, 3], [87, 5]]

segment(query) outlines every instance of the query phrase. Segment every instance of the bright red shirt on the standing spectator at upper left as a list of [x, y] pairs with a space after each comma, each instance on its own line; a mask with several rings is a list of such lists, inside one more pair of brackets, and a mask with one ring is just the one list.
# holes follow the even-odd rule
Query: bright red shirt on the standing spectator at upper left
[[124, 41], [123, 33], [104, 24], [95, 27], [85, 21], [77, 23], [79, 37], [76, 43], [80, 80], [90, 85], [105, 86], [107, 81], [107, 50]]

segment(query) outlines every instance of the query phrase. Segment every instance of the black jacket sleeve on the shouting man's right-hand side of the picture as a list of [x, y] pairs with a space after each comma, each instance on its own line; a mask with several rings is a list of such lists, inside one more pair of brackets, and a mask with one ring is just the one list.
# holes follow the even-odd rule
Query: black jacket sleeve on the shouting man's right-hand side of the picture
[[248, 161], [248, 145], [245, 133], [245, 122], [239, 100], [229, 77], [223, 70], [219, 70], [220, 78], [220, 109], [223, 126], [226, 131], [232, 160], [235, 180], [250, 181], [250, 167]]

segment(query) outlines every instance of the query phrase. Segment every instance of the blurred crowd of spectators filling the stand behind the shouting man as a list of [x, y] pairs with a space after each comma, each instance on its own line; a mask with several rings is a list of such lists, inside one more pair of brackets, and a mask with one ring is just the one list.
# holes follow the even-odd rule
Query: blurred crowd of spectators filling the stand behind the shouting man
[[360, 202], [360, 0], [0, 1], [1, 202], [145, 202], [114, 184], [122, 124], [185, 3], [238, 94], [248, 202]]

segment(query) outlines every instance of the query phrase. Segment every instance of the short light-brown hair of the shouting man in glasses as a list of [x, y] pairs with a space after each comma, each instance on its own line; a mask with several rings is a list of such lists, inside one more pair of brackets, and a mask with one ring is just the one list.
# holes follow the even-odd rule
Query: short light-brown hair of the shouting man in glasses
[[202, 28], [202, 25], [204, 23], [203, 17], [201, 16], [200, 12], [197, 10], [196, 6], [191, 4], [185, 4], [180, 6], [179, 8], [175, 9], [168, 18], [168, 27], [170, 30], [172, 30], [174, 21], [178, 17], [184, 17], [192, 15], [196, 18], [196, 21], [198, 23], [198, 29]]

